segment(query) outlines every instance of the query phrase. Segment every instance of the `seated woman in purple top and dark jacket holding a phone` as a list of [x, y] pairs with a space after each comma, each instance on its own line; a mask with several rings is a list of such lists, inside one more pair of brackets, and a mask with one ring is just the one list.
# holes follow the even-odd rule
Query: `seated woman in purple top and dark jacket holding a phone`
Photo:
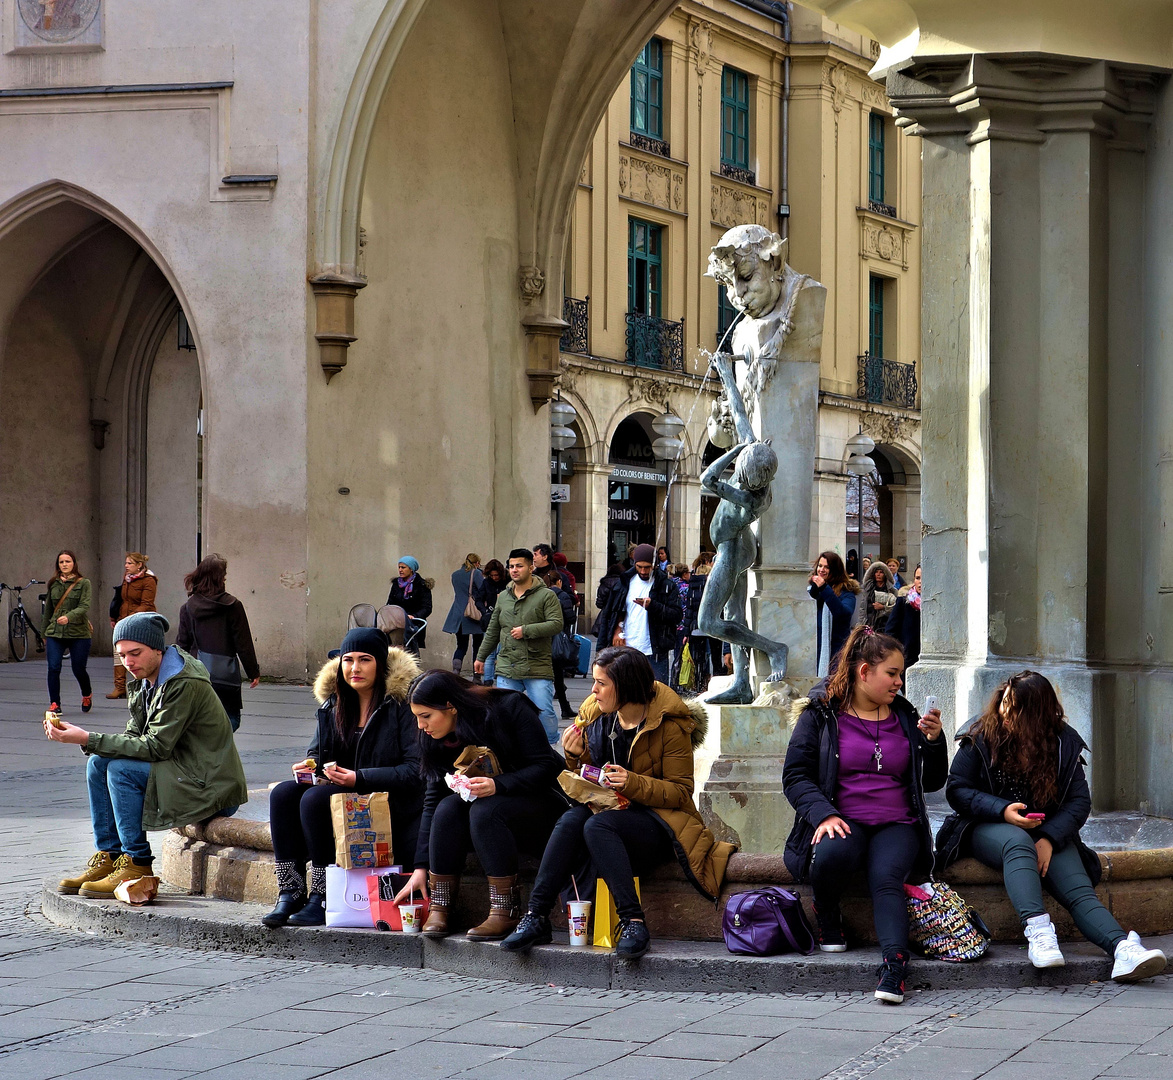
[[782, 789], [794, 807], [786, 867], [814, 889], [819, 947], [847, 949], [839, 902], [866, 870], [883, 955], [876, 997], [904, 1000], [908, 908], [904, 883], [933, 872], [924, 793], [949, 772], [937, 709], [918, 716], [900, 695], [904, 653], [895, 638], [856, 626], [830, 678], [800, 701]]

